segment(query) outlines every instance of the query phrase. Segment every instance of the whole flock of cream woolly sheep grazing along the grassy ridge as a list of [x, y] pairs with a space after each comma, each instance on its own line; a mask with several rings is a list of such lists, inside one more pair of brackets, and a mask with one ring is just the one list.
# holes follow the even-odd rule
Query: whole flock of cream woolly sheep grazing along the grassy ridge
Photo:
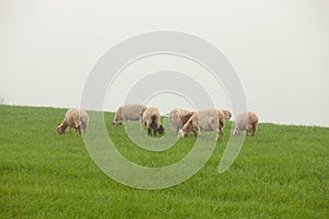
[[[195, 137], [201, 137], [201, 131], [216, 131], [216, 141], [220, 135], [224, 139], [225, 120], [230, 119], [231, 113], [227, 110], [205, 110], [191, 112], [182, 108], [174, 108], [168, 115], [170, 125], [175, 129], [180, 138], [186, 137], [192, 131]], [[64, 134], [67, 127], [75, 128], [81, 135], [88, 126], [88, 114], [84, 110], [70, 108], [65, 115], [63, 123], [57, 127], [58, 134]], [[140, 104], [126, 104], [117, 108], [112, 125], [122, 125], [121, 120], [140, 120], [141, 127], [147, 127], [148, 135], [156, 136], [166, 131], [160, 120], [160, 113], [157, 107], [146, 107]], [[242, 130], [254, 136], [258, 127], [258, 116], [252, 112], [245, 112], [237, 116], [235, 123], [235, 135]]]

